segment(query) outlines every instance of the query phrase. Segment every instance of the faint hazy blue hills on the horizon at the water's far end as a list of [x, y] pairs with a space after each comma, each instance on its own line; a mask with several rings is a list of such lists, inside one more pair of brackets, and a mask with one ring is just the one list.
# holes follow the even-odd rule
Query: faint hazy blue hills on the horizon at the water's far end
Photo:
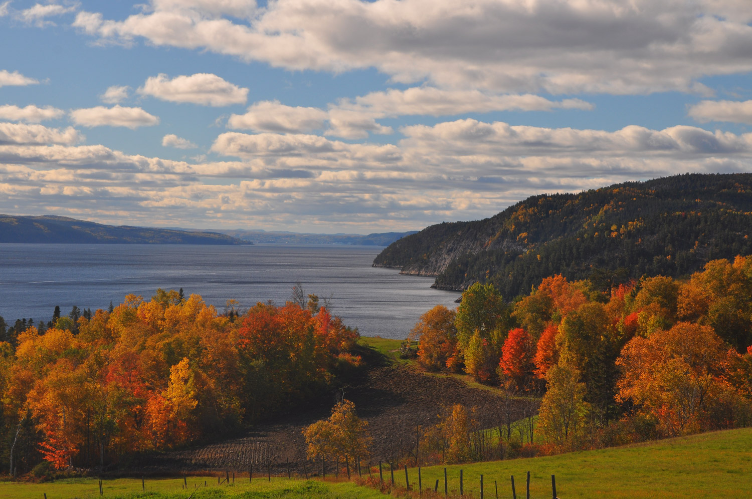
[[389, 246], [396, 240], [417, 231], [383, 232], [379, 234], [302, 234], [282, 231], [249, 231], [243, 229], [220, 229], [223, 234], [250, 240], [254, 243], [289, 243], [289, 244], [355, 244], [361, 246]]

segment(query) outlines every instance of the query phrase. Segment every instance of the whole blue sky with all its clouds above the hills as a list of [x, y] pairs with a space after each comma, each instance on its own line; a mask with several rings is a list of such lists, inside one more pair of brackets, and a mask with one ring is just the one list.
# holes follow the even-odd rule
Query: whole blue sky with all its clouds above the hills
[[749, 0], [0, 0], [0, 213], [368, 234], [752, 171]]

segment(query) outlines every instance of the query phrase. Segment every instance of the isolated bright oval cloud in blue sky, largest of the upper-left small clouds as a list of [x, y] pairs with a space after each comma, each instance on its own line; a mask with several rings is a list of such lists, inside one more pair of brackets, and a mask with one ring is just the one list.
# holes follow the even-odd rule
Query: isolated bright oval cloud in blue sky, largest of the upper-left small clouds
[[233, 85], [216, 74], [197, 73], [168, 80], [166, 74], [150, 77], [138, 93], [171, 102], [190, 102], [204, 106], [245, 104], [248, 89]]

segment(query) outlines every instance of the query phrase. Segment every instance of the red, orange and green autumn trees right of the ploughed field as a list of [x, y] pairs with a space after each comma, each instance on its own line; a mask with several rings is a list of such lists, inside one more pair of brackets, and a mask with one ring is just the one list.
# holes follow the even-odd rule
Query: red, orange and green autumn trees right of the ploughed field
[[[750, 425], [750, 296], [752, 257], [744, 256], [608, 293], [559, 274], [511, 304], [493, 284], [475, 283], [456, 311], [429, 310], [411, 336], [428, 370], [542, 395], [528, 438], [515, 439], [526, 455], [597, 449]], [[468, 408], [454, 407], [439, 425], [453, 437], [435, 439], [434, 452], [481, 458], [471, 421]], [[511, 431], [499, 430], [502, 452], [503, 437], [511, 443]]]

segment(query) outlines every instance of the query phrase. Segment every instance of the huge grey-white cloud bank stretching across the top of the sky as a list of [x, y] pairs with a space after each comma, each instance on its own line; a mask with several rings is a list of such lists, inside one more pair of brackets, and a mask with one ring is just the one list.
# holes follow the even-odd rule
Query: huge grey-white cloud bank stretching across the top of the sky
[[752, 11], [740, 2], [283, 0], [245, 23], [208, 4], [151, 2], [125, 20], [80, 12], [74, 26], [292, 70], [372, 67], [401, 83], [496, 93], [697, 92], [699, 77], [752, 71]]

